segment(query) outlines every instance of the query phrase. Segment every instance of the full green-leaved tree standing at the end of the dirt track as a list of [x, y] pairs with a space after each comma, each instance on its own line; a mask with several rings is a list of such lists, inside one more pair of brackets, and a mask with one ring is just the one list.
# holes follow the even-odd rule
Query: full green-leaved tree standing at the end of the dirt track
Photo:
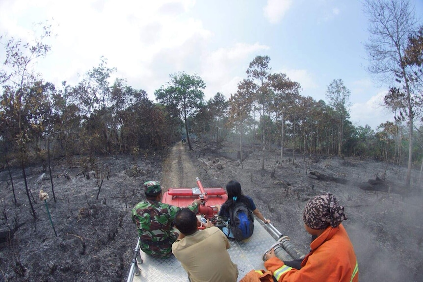
[[194, 117], [201, 108], [206, 84], [197, 75], [187, 75], [184, 72], [170, 75], [167, 87], [155, 91], [156, 99], [168, 106], [174, 106], [179, 110], [181, 118], [185, 122], [185, 132], [189, 150], [192, 150], [189, 140], [188, 118]]

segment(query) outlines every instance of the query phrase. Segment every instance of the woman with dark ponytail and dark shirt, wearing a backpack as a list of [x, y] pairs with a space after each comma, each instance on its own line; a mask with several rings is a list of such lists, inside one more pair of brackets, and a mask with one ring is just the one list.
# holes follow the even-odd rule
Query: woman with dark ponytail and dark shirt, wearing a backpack
[[[228, 193], [228, 200], [226, 200], [225, 203], [223, 203], [221, 206], [216, 205], [217, 207], [217, 214], [223, 218], [223, 220], [227, 221], [229, 218], [229, 211], [231, 208], [235, 207], [235, 203], [238, 201], [244, 203], [255, 216], [257, 216], [259, 219], [261, 219], [265, 224], [269, 224], [270, 220], [265, 219], [263, 214], [260, 212], [260, 210], [256, 207], [254, 204], [253, 199], [250, 197], [244, 195], [241, 190], [241, 184], [237, 180], [231, 180], [226, 184], [226, 192]], [[225, 233], [228, 237], [233, 238], [234, 236], [232, 233], [227, 229], [223, 228], [223, 233]]]

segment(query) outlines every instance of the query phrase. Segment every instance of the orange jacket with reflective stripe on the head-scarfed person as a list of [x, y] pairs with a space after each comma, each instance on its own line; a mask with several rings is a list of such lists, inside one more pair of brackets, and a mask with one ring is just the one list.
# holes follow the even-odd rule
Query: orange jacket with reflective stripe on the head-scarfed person
[[296, 270], [277, 257], [264, 262], [278, 282], [358, 282], [354, 248], [342, 224], [328, 227], [311, 244], [311, 251]]

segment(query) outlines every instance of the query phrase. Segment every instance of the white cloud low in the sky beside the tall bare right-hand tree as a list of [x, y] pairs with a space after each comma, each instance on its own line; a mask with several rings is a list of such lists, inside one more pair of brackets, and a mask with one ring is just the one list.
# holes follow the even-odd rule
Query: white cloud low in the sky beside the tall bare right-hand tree
[[394, 115], [383, 104], [386, 94], [387, 91], [381, 91], [365, 103], [354, 103], [350, 108], [351, 122], [356, 126], [370, 125], [376, 129], [381, 123], [393, 121]]

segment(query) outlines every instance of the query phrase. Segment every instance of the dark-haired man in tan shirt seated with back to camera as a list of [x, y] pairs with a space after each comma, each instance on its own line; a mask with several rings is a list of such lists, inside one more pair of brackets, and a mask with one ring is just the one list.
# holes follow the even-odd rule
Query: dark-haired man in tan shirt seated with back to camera
[[197, 216], [183, 208], [175, 218], [181, 232], [172, 244], [173, 255], [181, 262], [191, 282], [236, 282], [238, 267], [227, 249], [226, 235], [207, 220], [206, 229], [198, 230]]

